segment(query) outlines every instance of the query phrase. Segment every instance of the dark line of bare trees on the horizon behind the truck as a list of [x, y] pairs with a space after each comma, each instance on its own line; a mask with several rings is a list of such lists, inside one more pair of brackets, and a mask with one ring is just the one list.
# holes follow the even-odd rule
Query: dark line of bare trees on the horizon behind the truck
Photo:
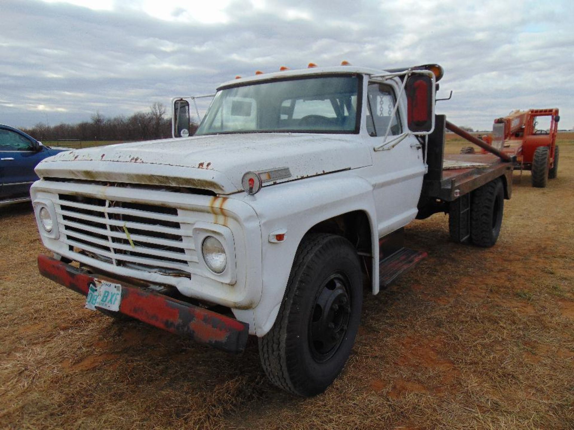
[[[123, 115], [107, 118], [96, 112], [90, 122], [78, 124], [38, 123], [32, 128], [22, 128], [38, 140], [148, 140], [163, 139], [172, 136], [172, 120], [166, 118], [166, 107], [162, 103], [153, 103], [149, 112], [136, 112], [126, 117]], [[190, 132], [197, 126], [192, 124]]]

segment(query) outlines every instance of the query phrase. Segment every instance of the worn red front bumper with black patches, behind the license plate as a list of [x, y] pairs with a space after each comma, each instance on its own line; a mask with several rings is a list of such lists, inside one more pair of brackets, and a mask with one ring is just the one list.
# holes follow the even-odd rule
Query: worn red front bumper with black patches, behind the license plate
[[[94, 282], [93, 276], [42, 254], [38, 255], [38, 269], [43, 276], [84, 296]], [[249, 335], [246, 323], [154, 291], [118, 283], [122, 284], [122, 314], [231, 353], [245, 349]]]

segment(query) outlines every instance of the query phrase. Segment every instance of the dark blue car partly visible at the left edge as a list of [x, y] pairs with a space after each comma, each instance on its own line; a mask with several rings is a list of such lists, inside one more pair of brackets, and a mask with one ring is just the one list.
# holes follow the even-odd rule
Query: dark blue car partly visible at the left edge
[[25, 132], [0, 124], [0, 206], [30, 200], [34, 167], [69, 148], [50, 148]]

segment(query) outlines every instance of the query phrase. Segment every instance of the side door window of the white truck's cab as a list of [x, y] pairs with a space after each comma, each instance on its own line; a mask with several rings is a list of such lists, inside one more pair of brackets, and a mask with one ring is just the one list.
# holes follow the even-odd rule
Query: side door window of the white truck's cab
[[389, 135], [401, 134], [398, 111], [393, 115], [397, 100], [389, 85], [370, 83], [367, 91], [367, 132], [370, 136], [384, 136], [390, 124]]

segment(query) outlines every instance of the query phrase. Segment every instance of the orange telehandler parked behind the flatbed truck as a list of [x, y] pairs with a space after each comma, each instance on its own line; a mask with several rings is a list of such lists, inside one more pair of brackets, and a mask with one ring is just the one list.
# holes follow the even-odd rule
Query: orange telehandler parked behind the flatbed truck
[[[550, 116], [550, 128], [537, 130], [538, 118]], [[557, 108], [513, 111], [494, 120], [492, 135], [484, 142], [502, 153], [515, 156], [515, 168], [532, 171], [532, 186], [544, 188], [558, 173], [559, 147], [556, 133], [560, 115]], [[482, 150], [486, 153], [485, 150]]]

